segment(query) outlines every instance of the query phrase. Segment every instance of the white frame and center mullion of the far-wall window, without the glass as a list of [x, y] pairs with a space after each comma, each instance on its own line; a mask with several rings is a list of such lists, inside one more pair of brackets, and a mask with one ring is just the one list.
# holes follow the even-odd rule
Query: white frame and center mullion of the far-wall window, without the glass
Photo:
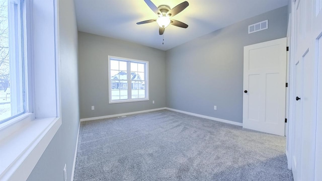
[[[119, 60], [119, 61], [125, 61], [127, 62], [127, 90], [128, 90], [128, 99], [125, 100], [112, 100], [112, 81], [111, 81], [111, 59]], [[132, 92], [131, 92], [131, 62], [134, 63], [144, 63], [145, 69], [144, 69], [144, 80], [146, 82], [145, 84], [145, 98], [140, 99], [132, 99]], [[135, 60], [135, 59], [129, 59], [129, 58], [122, 58], [122, 57], [116, 57], [116, 56], [110, 56], [108, 55], [108, 89], [109, 89], [109, 104], [115, 104], [115, 103], [130, 103], [130, 102], [140, 102], [140, 101], [149, 101], [149, 62], [143, 61], [143, 60]]]

